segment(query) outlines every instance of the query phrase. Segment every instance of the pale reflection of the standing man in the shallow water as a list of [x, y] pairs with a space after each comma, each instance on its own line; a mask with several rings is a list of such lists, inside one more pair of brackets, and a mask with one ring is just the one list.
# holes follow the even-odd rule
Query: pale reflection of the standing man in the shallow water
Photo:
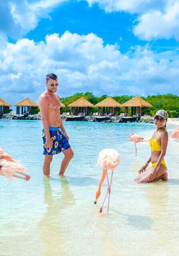
[[42, 255], [57, 256], [63, 252], [64, 241], [64, 216], [63, 210], [74, 205], [74, 197], [70, 191], [68, 180], [59, 176], [59, 189], [52, 190], [51, 178], [43, 177], [44, 203], [47, 204], [44, 218], [38, 224], [40, 239], [44, 242]]

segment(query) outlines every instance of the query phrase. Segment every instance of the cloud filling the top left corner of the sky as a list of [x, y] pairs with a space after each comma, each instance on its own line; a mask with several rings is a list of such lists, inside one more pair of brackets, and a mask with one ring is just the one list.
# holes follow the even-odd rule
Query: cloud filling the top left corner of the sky
[[49, 17], [49, 13], [67, 0], [2, 0], [0, 1], [0, 37], [22, 37], [36, 28], [40, 18]]

